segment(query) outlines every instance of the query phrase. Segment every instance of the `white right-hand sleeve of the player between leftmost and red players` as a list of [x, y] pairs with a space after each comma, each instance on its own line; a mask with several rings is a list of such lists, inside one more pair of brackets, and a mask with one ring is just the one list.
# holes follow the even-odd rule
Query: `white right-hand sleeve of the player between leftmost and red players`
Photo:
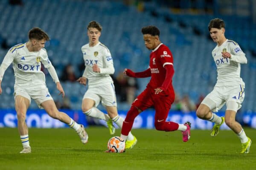
[[108, 48], [103, 51], [103, 63], [105, 63], [105, 68], [100, 68], [100, 74], [114, 74], [113, 59]]

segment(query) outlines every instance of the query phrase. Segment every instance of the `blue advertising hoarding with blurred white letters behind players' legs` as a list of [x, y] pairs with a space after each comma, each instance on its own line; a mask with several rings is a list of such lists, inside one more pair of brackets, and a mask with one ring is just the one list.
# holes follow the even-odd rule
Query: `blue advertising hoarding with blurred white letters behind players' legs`
[[[67, 113], [72, 119], [76, 122], [83, 124], [85, 127], [88, 126], [88, 123], [92, 123], [92, 119], [88, 119], [86, 116], [79, 111], [70, 111], [63, 110]], [[119, 111], [119, 115], [124, 117], [126, 116], [127, 111]], [[218, 113], [219, 116], [223, 116], [224, 113]], [[256, 128], [256, 113], [244, 113], [243, 114], [243, 123]], [[213, 126], [212, 122], [198, 119], [195, 115], [195, 112], [191, 113], [182, 113], [177, 111], [171, 111], [166, 121], [173, 121], [180, 124], [183, 124], [187, 121], [191, 122], [192, 129], [211, 129]], [[68, 127], [64, 123], [52, 119], [44, 110], [28, 110], [26, 115], [26, 123], [28, 127], [37, 127], [37, 128], [60, 128]], [[95, 121], [96, 124], [106, 125], [105, 121]], [[0, 127], [17, 127], [17, 115], [14, 109], [0, 109]], [[134, 121], [133, 128], [154, 128], [154, 110], [148, 110], [140, 113]], [[221, 129], [229, 129], [227, 125], [222, 125]]]

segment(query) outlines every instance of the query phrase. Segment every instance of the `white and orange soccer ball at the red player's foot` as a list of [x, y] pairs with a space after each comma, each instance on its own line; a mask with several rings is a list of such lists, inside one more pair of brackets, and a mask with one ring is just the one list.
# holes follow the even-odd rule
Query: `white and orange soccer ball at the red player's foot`
[[122, 153], [125, 150], [125, 140], [114, 136], [108, 141], [108, 150], [112, 153]]

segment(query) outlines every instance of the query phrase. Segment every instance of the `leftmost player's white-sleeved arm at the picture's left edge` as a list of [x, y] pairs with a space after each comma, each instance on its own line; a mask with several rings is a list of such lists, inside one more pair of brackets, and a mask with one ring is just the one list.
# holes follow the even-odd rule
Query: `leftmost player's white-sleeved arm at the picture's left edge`
[[0, 94], [2, 93], [1, 82], [3, 79], [4, 72], [9, 67], [9, 65], [11, 65], [11, 63], [13, 62], [15, 54], [16, 54], [15, 51], [12, 51], [12, 52], [8, 51], [6, 56], [3, 59], [2, 64], [0, 65]]

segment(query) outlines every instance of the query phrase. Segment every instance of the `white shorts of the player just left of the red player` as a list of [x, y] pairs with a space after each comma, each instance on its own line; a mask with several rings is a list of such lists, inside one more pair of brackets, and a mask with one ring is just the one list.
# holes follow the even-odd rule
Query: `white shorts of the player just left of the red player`
[[99, 105], [100, 101], [102, 102], [103, 106], [117, 106], [115, 86], [113, 83], [96, 87], [89, 86], [83, 99], [94, 100], [95, 107]]

